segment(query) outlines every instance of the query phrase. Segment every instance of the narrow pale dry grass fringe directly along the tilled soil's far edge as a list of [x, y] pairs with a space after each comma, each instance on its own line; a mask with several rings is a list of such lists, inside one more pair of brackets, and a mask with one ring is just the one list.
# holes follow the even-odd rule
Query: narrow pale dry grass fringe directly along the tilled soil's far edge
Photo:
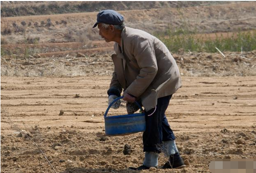
[[[90, 67], [90, 69], [93, 66]], [[67, 67], [63, 63], [55, 62], [46, 64], [46, 66], [35, 66], [35, 67], [21, 67], [14, 66], [9, 67], [7, 64], [1, 65], [1, 76], [20, 76], [20, 77], [60, 77], [60, 76], [88, 76], [88, 75], [111, 75], [112, 71], [106, 71], [105, 69], [99, 69], [95, 67], [89, 70], [85, 67]], [[210, 77], [210, 76], [256, 76], [256, 67], [254, 68], [240, 68], [237, 73], [233, 71], [221, 71], [214, 72], [212, 70], [187, 70], [180, 68], [181, 76], [190, 77]]]

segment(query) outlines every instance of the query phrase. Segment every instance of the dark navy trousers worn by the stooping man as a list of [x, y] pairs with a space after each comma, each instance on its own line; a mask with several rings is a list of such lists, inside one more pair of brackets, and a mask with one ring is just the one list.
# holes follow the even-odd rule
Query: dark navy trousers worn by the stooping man
[[143, 152], [161, 153], [162, 141], [175, 140], [174, 133], [165, 116], [170, 98], [172, 95], [158, 98], [156, 109], [153, 108], [146, 112], [146, 131], [142, 137]]

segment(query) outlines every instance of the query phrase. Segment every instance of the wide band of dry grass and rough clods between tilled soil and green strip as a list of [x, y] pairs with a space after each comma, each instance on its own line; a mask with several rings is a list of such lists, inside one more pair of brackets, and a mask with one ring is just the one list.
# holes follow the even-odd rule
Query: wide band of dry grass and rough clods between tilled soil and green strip
[[[87, 38], [87, 37], [86, 37]], [[34, 47], [25, 47], [18, 54], [1, 49], [1, 75], [21, 77], [112, 75], [114, 65], [111, 54], [78, 54], [65, 57], [40, 57]], [[17, 53], [17, 54], [16, 54]], [[256, 51], [173, 54], [181, 76], [256, 76]]]

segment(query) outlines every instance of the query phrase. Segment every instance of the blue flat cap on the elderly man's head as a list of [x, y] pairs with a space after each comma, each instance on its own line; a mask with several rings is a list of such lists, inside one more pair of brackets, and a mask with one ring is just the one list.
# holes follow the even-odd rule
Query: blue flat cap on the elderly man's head
[[94, 24], [95, 28], [99, 23], [109, 25], [120, 25], [123, 23], [123, 16], [114, 10], [103, 10], [97, 15], [97, 22]]

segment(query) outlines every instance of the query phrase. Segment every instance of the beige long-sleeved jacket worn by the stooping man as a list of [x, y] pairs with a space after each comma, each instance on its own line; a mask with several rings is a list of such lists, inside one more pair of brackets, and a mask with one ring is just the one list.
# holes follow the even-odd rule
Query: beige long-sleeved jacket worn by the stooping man
[[122, 48], [117, 42], [114, 45], [115, 69], [110, 87], [122, 88], [141, 98], [145, 110], [149, 111], [157, 105], [158, 98], [174, 94], [181, 87], [178, 66], [155, 36], [125, 27], [121, 40]]

